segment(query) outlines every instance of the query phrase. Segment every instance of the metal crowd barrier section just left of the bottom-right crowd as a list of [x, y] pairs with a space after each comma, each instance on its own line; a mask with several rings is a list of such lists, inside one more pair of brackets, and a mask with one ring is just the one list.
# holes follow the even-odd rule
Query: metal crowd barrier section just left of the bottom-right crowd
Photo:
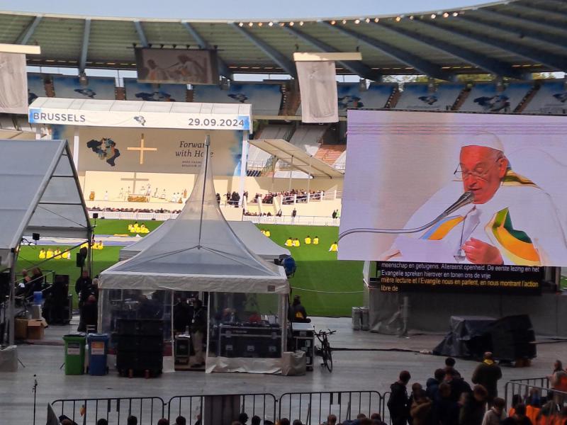
[[337, 423], [357, 419], [357, 414], [384, 417], [384, 399], [378, 391], [286, 392], [279, 398], [279, 418], [299, 419], [305, 425], [319, 425], [335, 414]]

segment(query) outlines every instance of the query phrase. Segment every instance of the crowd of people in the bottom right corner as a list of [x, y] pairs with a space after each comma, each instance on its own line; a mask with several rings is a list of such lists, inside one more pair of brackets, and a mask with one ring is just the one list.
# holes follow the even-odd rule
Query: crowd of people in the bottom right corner
[[[498, 397], [500, 366], [487, 352], [471, 376], [473, 386], [455, 368], [454, 358], [447, 358], [445, 367], [435, 370], [425, 387], [412, 383], [411, 375], [400, 372], [391, 385], [388, 410], [393, 425], [566, 425], [567, 407], [553, 390], [541, 394], [532, 389], [525, 397], [517, 395], [506, 412], [505, 400]], [[556, 361], [550, 376], [552, 388], [567, 385], [567, 373]]]

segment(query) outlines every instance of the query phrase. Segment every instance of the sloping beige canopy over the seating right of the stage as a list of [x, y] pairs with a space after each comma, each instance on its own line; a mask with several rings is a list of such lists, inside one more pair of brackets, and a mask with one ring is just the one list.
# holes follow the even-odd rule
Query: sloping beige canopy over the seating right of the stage
[[283, 139], [259, 139], [249, 140], [250, 145], [254, 145], [265, 152], [268, 152], [277, 159], [289, 164], [292, 168], [310, 174], [315, 179], [342, 179], [344, 173], [330, 166], [326, 162], [313, 157], [305, 152], [301, 147], [292, 145]]

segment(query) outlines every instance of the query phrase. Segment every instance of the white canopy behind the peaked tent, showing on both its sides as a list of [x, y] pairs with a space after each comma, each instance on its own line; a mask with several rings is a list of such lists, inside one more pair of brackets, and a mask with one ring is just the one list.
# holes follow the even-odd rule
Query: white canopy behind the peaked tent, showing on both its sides
[[[157, 229], [153, 230], [146, 237], [143, 237], [138, 242], [132, 245], [125, 246], [120, 249], [120, 261], [131, 259], [136, 254], [146, 249], [148, 246], [154, 244], [158, 239], [167, 233], [169, 227], [174, 224], [174, 219], [165, 221]], [[254, 252], [260, 258], [270, 261], [279, 258], [279, 256], [286, 254], [290, 255], [288, 249], [279, 246], [271, 239], [265, 237], [262, 232], [259, 231], [258, 227], [254, 226], [252, 222], [237, 222], [230, 221], [228, 225], [235, 232], [238, 239], [240, 239], [245, 246]]]

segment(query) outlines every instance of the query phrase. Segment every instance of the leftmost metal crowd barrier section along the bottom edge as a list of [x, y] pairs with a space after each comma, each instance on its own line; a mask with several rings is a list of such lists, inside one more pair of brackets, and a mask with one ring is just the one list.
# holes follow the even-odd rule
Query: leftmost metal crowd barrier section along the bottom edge
[[126, 424], [128, 416], [137, 417], [138, 425], [155, 425], [165, 414], [166, 403], [160, 397], [118, 397], [99, 399], [57, 399], [52, 402], [57, 416], [65, 415], [78, 425]]

